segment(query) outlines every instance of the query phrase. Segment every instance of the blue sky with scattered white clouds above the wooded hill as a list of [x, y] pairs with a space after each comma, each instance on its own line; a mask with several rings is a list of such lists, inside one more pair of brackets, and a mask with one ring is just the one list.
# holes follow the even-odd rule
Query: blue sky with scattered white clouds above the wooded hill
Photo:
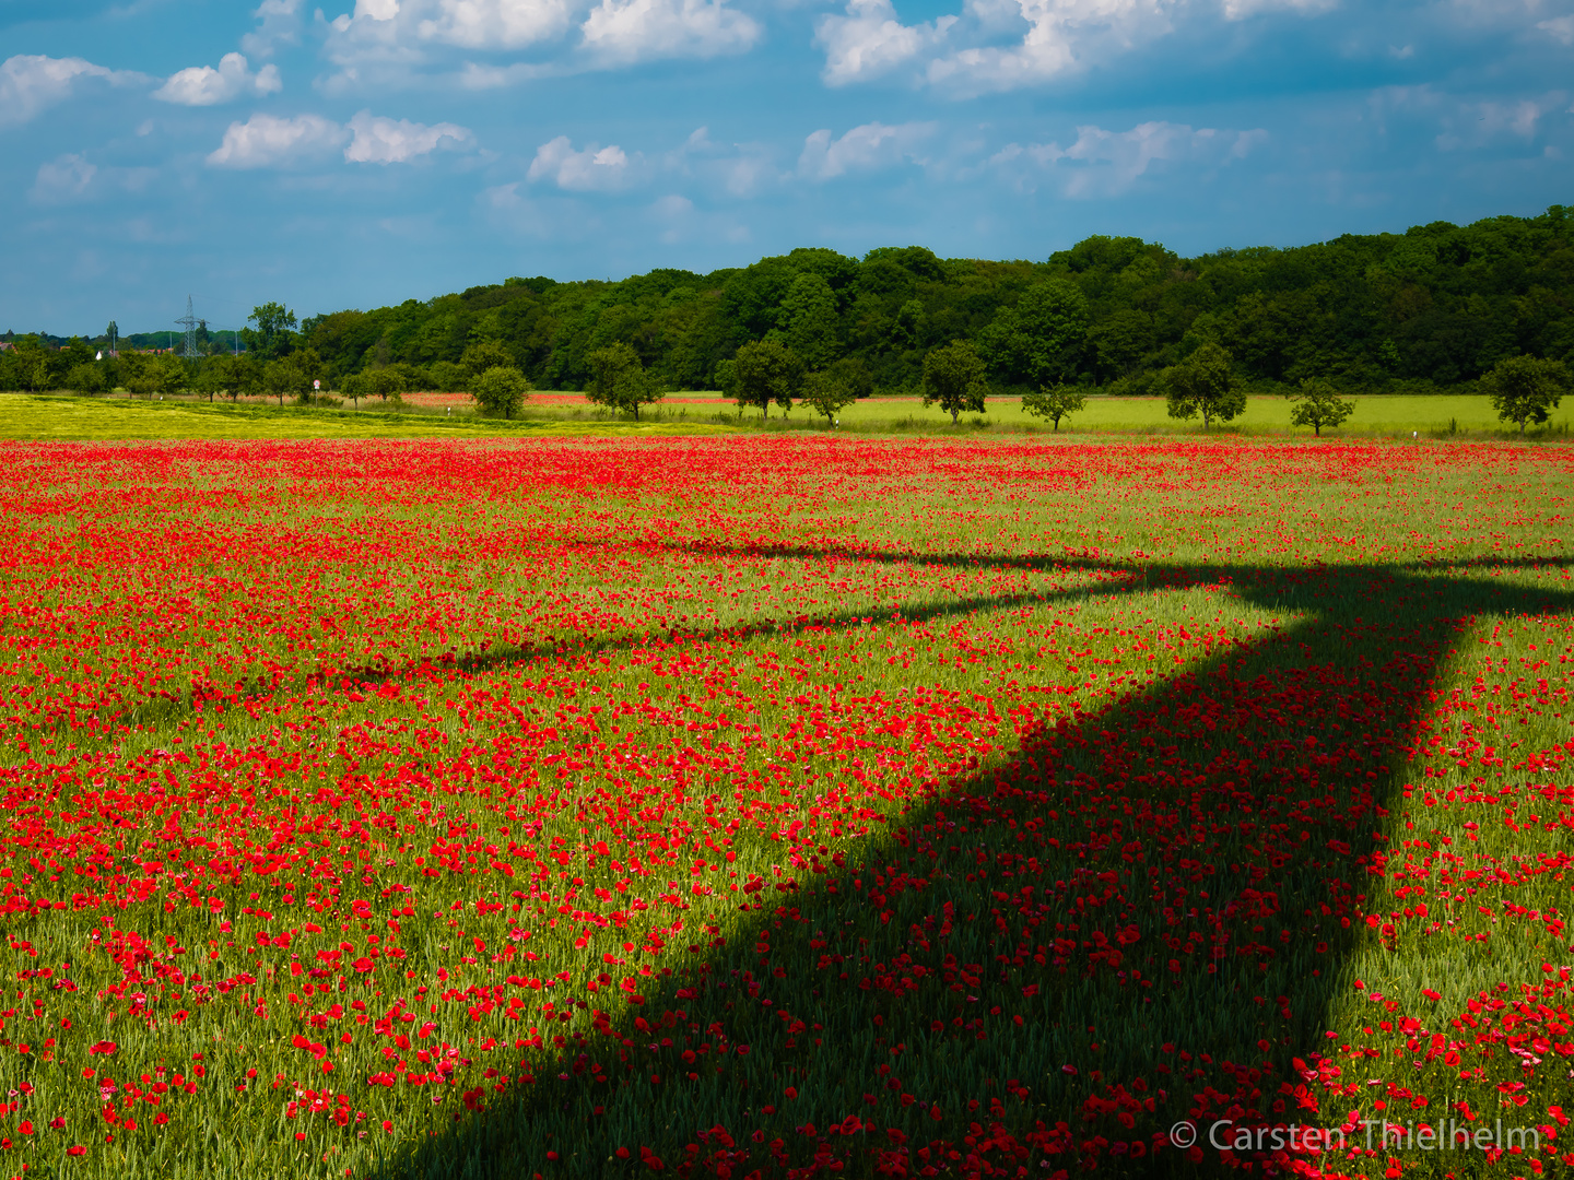
[[1574, 0], [0, 0], [0, 330], [1574, 205]]

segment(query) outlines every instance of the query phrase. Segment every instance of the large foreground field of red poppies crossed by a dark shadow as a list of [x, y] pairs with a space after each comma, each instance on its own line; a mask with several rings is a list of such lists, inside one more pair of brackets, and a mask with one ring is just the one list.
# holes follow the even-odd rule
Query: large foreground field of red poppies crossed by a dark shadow
[[1574, 1164], [1574, 452], [0, 455], [0, 1175]]

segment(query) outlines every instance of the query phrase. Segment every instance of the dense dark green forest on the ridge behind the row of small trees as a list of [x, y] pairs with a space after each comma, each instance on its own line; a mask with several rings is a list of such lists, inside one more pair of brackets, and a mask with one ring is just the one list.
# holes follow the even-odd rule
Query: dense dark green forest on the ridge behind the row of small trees
[[[299, 324], [269, 304], [241, 335], [258, 362], [297, 354], [302, 373], [331, 389], [389, 370], [395, 387], [460, 389], [477, 345], [504, 349], [538, 389], [586, 389], [592, 356], [617, 345], [663, 387], [715, 389], [740, 346], [779, 340], [859, 392], [913, 392], [930, 349], [966, 340], [1003, 390], [1154, 392], [1160, 370], [1217, 343], [1258, 385], [1314, 378], [1402, 392], [1475, 381], [1505, 357], [1574, 360], [1568, 214], [1552, 206], [1198, 258], [1136, 238], [1089, 238], [1042, 263], [943, 260], [916, 245], [863, 258], [801, 249], [707, 275], [508, 278]], [[69, 387], [68, 373], [80, 376], [87, 341], [69, 357], [17, 343], [0, 352], [0, 385]]]

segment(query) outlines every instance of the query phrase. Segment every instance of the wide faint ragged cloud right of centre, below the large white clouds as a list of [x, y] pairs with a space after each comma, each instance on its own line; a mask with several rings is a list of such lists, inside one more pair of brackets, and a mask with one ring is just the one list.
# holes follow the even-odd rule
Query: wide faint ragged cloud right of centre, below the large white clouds
[[1264, 131], [1220, 131], [1176, 123], [1140, 123], [1130, 131], [1077, 129], [1077, 140], [1059, 143], [1007, 145], [992, 164], [1051, 170], [1067, 197], [1118, 197], [1132, 189], [1154, 165], [1192, 162], [1220, 167], [1243, 159], [1267, 138]]

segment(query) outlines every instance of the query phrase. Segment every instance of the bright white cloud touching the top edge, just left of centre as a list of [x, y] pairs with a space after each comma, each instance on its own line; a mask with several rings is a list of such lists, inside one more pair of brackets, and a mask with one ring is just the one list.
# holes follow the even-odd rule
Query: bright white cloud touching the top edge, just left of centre
[[763, 31], [726, 0], [601, 0], [581, 25], [604, 63], [741, 53]]

